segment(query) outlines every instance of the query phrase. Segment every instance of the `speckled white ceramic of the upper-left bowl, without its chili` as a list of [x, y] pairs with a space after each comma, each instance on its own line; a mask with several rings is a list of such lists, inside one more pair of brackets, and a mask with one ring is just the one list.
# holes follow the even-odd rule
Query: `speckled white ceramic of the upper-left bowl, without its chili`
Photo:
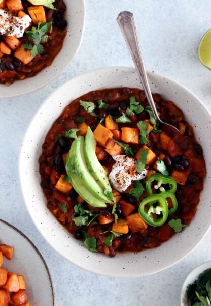
[[17, 97], [41, 89], [55, 79], [71, 63], [81, 45], [85, 25], [84, 0], [65, 0], [67, 35], [63, 47], [51, 66], [43, 69], [34, 77], [15, 81], [7, 87], [0, 84], [0, 98]]

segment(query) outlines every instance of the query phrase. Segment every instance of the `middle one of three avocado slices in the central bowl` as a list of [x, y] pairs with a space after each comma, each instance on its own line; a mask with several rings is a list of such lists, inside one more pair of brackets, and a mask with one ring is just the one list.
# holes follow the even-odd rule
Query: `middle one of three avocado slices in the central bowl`
[[89, 172], [86, 164], [86, 159], [84, 156], [84, 137], [78, 136], [76, 140], [76, 152], [74, 166], [80, 173], [80, 178], [87, 190], [93, 194], [93, 196], [106, 203], [112, 202], [107, 196], [105, 196], [104, 191], [95, 181], [91, 173]]

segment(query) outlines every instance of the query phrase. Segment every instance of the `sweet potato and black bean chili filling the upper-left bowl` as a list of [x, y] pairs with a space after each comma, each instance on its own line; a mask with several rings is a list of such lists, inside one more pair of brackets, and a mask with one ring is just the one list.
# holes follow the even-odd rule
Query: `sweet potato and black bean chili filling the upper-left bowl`
[[[51, 4], [55, 9], [46, 7], [45, 1], [44, 5], [30, 2], [2, 0], [0, 3], [0, 84], [6, 86], [15, 80], [32, 77], [50, 66], [66, 36], [63, 0]], [[29, 20], [26, 28], [23, 27], [25, 20]]]

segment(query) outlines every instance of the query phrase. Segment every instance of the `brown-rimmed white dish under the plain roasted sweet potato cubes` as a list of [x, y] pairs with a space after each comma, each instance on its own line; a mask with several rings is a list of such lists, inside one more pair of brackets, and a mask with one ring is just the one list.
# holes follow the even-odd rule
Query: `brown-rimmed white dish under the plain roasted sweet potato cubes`
[[18, 229], [0, 219], [0, 242], [14, 247], [12, 260], [3, 268], [23, 275], [30, 306], [54, 306], [51, 275], [37, 247]]

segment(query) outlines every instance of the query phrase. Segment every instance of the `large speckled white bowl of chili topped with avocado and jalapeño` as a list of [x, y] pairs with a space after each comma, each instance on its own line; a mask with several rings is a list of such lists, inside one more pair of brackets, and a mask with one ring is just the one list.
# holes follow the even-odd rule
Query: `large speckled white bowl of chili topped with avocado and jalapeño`
[[102, 275], [161, 271], [190, 253], [210, 226], [210, 114], [178, 82], [148, 76], [161, 118], [177, 135], [153, 121], [135, 69], [112, 67], [57, 89], [34, 116], [20, 153], [34, 224], [59, 254]]

